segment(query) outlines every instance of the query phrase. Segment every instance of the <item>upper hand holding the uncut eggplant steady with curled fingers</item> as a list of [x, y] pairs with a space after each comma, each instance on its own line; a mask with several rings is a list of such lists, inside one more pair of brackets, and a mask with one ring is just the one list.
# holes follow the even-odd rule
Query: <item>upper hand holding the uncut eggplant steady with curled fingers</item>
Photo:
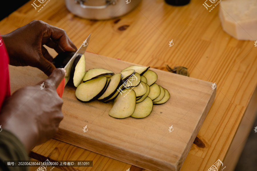
[[55, 49], [57, 53], [77, 50], [65, 30], [40, 20], [34, 20], [1, 36], [5, 42], [11, 65], [36, 67], [47, 76], [53, 72], [55, 66], [51, 63], [53, 56], [49, 54], [44, 44]]

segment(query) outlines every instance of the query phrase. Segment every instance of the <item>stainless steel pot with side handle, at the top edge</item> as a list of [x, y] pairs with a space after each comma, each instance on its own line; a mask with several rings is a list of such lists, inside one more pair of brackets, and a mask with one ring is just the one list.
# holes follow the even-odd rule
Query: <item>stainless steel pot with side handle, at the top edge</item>
[[67, 9], [82, 18], [105, 20], [124, 15], [141, 0], [65, 0]]

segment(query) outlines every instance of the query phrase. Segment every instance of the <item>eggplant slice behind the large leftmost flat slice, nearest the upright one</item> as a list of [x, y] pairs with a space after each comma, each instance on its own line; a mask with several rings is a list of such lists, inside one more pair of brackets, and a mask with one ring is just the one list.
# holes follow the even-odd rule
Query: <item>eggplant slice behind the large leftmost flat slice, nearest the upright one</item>
[[101, 77], [101, 76], [107, 76], [107, 77], [111, 77], [113, 76], [114, 73], [110, 70], [106, 70], [103, 68], [94, 68], [94, 69], [90, 69], [86, 72], [84, 78], [83, 78], [83, 82], [92, 80], [94, 78], [97, 77]]

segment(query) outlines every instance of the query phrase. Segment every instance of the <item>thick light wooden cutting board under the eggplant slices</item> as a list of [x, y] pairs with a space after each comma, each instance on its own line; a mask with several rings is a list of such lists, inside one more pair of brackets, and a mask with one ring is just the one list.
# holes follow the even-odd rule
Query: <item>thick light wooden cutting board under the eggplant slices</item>
[[[105, 68], [119, 73], [133, 65], [90, 52], [85, 56], [87, 70]], [[180, 170], [214, 101], [216, 89], [212, 89], [210, 82], [150, 70], [157, 73], [156, 83], [170, 92], [170, 99], [163, 105], [154, 105], [148, 117], [113, 118], [108, 115], [113, 102], [82, 103], [75, 97], [76, 89], [66, 86], [62, 97], [64, 119], [55, 138], [150, 171]], [[15, 89], [45, 78], [32, 67], [10, 67], [10, 73], [20, 78], [11, 80]], [[87, 132], [83, 131], [85, 126]], [[172, 132], [168, 130], [170, 126]]]

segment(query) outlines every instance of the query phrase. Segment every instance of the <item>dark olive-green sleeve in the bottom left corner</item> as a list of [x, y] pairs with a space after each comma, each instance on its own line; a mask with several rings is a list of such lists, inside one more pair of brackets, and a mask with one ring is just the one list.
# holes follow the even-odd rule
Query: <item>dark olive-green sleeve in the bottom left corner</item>
[[[1, 129], [0, 129], [1, 131]], [[6, 167], [5, 160], [27, 160], [25, 146], [11, 132], [2, 130], [0, 132], [0, 171], [28, 171], [29, 167]], [[18, 164], [16, 162], [16, 164]]]

